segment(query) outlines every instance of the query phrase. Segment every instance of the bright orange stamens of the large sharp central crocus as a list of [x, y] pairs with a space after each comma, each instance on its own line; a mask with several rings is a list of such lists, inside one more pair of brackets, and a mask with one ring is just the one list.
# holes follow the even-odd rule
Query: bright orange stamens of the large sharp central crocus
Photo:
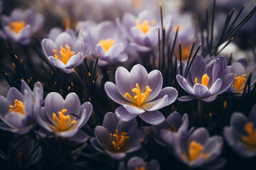
[[152, 90], [149, 89], [149, 86], [146, 86], [145, 92], [142, 93], [142, 91], [139, 89], [139, 84], [136, 84], [136, 88], [132, 89], [132, 91], [137, 94], [136, 96], [134, 96], [134, 98], [132, 98], [132, 96], [128, 93], [124, 94], [124, 97], [128, 97], [129, 99], [131, 99], [132, 103], [134, 103], [136, 106], [142, 106]]

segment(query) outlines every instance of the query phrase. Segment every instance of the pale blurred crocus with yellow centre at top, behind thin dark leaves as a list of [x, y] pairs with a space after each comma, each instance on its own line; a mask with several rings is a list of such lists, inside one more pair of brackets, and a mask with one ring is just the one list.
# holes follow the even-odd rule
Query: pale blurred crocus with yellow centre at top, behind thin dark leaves
[[[120, 29], [124, 30], [124, 35], [129, 38], [132, 47], [140, 52], [149, 52], [159, 42], [160, 18], [157, 16], [159, 15], [152, 11], [142, 11], [138, 16], [124, 13]], [[166, 35], [169, 35], [171, 30], [171, 21], [171, 15], [164, 18]]]

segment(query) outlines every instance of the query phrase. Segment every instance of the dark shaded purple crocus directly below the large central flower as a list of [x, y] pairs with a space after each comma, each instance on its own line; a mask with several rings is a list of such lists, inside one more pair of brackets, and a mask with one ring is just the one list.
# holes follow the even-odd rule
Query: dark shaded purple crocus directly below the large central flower
[[114, 159], [123, 159], [128, 153], [138, 151], [146, 137], [138, 129], [136, 119], [123, 122], [114, 113], [105, 115], [102, 126], [96, 126], [94, 134], [90, 140], [92, 146]]

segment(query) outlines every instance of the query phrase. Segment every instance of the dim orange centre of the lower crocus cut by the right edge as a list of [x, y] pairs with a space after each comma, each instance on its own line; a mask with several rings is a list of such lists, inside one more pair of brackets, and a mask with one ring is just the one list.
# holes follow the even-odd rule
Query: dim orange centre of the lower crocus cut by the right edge
[[256, 130], [253, 128], [253, 123], [246, 123], [244, 129], [247, 132], [247, 136], [242, 135], [242, 141], [247, 148], [256, 149]]

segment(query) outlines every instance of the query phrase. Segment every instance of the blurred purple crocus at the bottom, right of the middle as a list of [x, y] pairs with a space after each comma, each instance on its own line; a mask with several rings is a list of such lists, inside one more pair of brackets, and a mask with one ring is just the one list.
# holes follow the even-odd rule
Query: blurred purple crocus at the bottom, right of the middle
[[198, 128], [178, 135], [174, 150], [176, 157], [192, 168], [220, 169], [225, 164], [225, 159], [217, 159], [222, 147], [220, 136], [209, 137], [206, 128]]

